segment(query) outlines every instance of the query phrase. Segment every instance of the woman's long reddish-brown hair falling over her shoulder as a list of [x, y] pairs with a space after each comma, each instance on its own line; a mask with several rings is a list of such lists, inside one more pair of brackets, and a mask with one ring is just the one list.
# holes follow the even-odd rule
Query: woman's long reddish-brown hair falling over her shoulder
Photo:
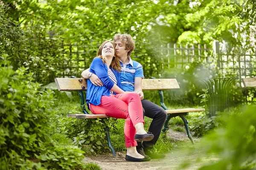
[[116, 71], [121, 71], [121, 65], [120, 65], [120, 62], [119, 62], [119, 58], [117, 57], [116, 55], [116, 46], [114, 44], [114, 42], [112, 41], [104, 41], [102, 43], [102, 45], [99, 46], [99, 50], [98, 50], [98, 56], [100, 59], [102, 59], [103, 63], [106, 63], [106, 60], [102, 57], [102, 49], [103, 49], [103, 46], [107, 43], [107, 42], [111, 42], [113, 44], [113, 47], [114, 47], [114, 51], [115, 51], [115, 55], [111, 61], [111, 64], [110, 66], [115, 69]]

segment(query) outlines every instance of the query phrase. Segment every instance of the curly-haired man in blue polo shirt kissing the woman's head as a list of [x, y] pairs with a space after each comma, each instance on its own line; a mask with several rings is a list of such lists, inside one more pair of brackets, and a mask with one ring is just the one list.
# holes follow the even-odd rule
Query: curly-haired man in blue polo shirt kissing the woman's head
[[[154, 135], [154, 139], [151, 141], [137, 142], [137, 151], [141, 155], [148, 155], [151, 158], [163, 158], [164, 155], [157, 155], [151, 152], [154, 144], [160, 136], [163, 124], [166, 120], [167, 113], [160, 106], [144, 99], [142, 92], [142, 79], [143, 68], [139, 62], [133, 61], [130, 57], [131, 52], [135, 48], [134, 40], [129, 34], [116, 34], [113, 38], [116, 45], [116, 54], [119, 57], [121, 72], [120, 78], [122, 87], [125, 91], [136, 91], [140, 95], [140, 99], [143, 106], [143, 115], [152, 120], [148, 132]], [[84, 79], [90, 79], [93, 85], [102, 86], [101, 80], [95, 75], [89, 72], [89, 68], [81, 74]], [[145, 153], [144, 153], [145, 151]]]

